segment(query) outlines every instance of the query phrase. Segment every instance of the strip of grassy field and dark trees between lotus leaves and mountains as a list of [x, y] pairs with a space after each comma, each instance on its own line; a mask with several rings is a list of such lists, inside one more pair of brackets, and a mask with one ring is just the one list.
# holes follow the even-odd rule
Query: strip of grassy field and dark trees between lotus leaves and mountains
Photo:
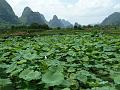
[[6, 36], [51, 36], [51, 35], [78, 35], [79, 33], [86, 32], [103, 32], [105, 34], [120, 34], [120, 26], [100, 26], [100, 25], [88, 25], [79, 26], [78, 28], [50, 28], [48, 25], [39, 25], [33, 23], [31, 25], [19, 25], [12, 26], [11, 29], [0, 29], [0, 37]]

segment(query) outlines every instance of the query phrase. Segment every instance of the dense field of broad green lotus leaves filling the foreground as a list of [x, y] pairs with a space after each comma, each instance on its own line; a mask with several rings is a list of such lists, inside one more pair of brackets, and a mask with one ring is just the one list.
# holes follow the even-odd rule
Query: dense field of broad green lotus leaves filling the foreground
[[1, 38], [0, 89], [119, 90], [119, 54], [120, 36], [97, 32]]

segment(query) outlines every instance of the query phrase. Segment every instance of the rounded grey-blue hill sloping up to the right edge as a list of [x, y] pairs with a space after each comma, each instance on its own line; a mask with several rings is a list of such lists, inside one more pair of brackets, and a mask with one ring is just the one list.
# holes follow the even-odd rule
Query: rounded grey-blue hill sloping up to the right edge
[[120, 13], [115, 12], [111, 14], [101, 24], [102, 25], [120, 25]]

